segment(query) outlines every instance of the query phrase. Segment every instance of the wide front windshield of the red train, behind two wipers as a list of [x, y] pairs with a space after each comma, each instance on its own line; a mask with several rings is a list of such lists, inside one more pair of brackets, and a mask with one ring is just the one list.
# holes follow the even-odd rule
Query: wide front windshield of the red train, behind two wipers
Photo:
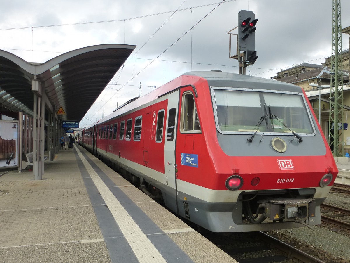
[[[251, 133], [260, 118], [268, 114], [258, 128], [262, 134], [313, 135], [314, 126], [301, 93], [254, 89], [212, 88], [216, 126], [221, 133]], [[270, 118], [275, 115], [277, 118]], [[283, 125], [283, 122], [285, 125]]]

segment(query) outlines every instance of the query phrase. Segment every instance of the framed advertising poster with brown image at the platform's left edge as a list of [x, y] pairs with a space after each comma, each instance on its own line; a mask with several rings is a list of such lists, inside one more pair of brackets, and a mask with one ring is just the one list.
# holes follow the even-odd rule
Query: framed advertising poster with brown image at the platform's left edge
[[18, 167], [18, 121], [0, 120], [0, 169]]

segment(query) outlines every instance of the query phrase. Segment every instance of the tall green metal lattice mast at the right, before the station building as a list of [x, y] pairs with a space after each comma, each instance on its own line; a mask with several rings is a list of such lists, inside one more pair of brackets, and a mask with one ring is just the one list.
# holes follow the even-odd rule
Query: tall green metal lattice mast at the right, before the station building
[[333, 156], [343, 156], [343, 63], [340, 0], [333, 0], [331, 89], [328, 144]]

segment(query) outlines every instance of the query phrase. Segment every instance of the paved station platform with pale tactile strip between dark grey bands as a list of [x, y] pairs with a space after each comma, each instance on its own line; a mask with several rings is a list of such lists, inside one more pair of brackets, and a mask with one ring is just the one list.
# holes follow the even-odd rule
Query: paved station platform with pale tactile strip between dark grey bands
[[0, 175], [1, 262], [236, 262], [77, 144]]

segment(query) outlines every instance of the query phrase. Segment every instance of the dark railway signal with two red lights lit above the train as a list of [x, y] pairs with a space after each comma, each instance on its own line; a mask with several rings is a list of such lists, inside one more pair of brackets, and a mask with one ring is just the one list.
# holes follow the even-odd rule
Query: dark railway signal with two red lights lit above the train
[[[238, 27], [229, 32], [230, 35], [230, 59], [237, 59], [239, 62], [239, 74], [245, 75], [245, 68], [257, 61], [257, 52], [255, 50], [255, 27], [258, 19], [252, 11], [241, 10], [238, 12]], [[238, 34], [231, 33], [238, 28]], [[237, 54], [231, 56], [231, 35], [237, 36]], [[242, 53], [241, 53], [242, 52]]]

